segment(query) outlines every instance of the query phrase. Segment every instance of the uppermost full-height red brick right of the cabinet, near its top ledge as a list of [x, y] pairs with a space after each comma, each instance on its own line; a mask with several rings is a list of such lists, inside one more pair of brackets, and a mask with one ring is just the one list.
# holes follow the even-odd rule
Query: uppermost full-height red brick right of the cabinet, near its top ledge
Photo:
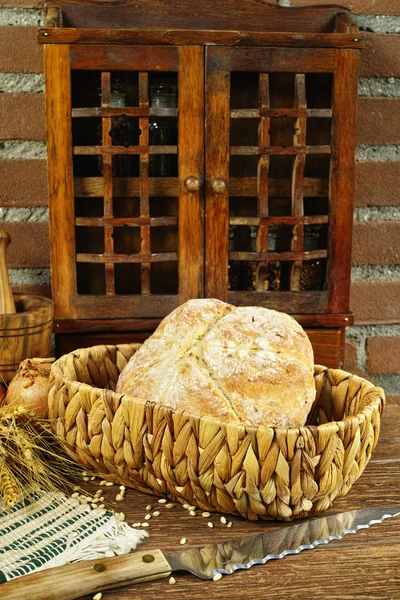
[[360, 77], [400, 77], [400, 35], [366, 33], [364, 39]]

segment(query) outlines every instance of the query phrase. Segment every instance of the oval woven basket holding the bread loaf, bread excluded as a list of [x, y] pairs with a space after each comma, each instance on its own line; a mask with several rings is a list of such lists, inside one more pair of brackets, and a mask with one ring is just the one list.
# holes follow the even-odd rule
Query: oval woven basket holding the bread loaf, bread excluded
[[247, 427], [116, 394], [139, 347], [95, 346], [52, 366], [53, 430], [105, 479], [203, 510], [290, 521], [345, 495], [377, 444], [385, 395], [356, 375], [316, 366], [309, 425]]

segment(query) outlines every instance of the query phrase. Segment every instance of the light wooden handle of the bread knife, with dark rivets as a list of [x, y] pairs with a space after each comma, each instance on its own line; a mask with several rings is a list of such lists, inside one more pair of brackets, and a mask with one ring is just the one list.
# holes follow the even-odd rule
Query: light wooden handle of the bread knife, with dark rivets
[[75, 600], [124, 585], [162, 579], [171, 567], [161, 550], [146, 550], [55, 567], [0, 584], [1, 598]]

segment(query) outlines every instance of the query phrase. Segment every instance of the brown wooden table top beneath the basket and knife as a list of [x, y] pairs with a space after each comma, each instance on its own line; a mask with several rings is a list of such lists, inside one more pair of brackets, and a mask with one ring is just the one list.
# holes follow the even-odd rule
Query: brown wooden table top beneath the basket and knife
[[[93, 482], [85, 487], [94, 491], [98, 484]], [[160, 510], [160, 516], [149, 521], [149, 538], [141, 544], [142, 549], [179, 550], [183, 537], [187, 538], [187, 547], [200, 546], [280, 526], [279, 522], [251, 522], [226, 515], [233, 522], [227, 528], [220, 522], [221, 515], [214, 514], [209, 519], [200, 515], [191, 517], [181, 505], [167, 510], [154, 496], [135, 490], [127, 490], [125, 500], [117, 503], [117, 486], [102, 489], [111, 505], [125, 513], [129, 524], [143, 522], [149, 504], [152, 511]], [[369, 465], [330, 512], [385, 505], [400, 506], [400, 404], [394, 400], [388, 400], [386, 405], [380, 439]], [[207, 521], [214, 523], [213, 529], [207, 526]], [[132, 585], [103, 592], [102, 600], [400, 599], [400, 517], [331, 542], [329, 546], [237, 571], [220, 581], [202, 581], [184, 572], [174, 575], [174, 585], [168, 579]], [[85, 600], [90, 598], [85, 596]]]

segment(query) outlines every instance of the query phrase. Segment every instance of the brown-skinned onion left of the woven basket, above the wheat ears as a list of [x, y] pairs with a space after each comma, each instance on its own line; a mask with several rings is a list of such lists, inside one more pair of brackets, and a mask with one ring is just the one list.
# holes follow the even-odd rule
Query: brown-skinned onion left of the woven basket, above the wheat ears
[[27, 358], [21, 362], [17, 374], [8, 386], [6, 403], [22, 404], [38, 417], [47, 417], [47, 398], [51, 363], [54, 358]]

